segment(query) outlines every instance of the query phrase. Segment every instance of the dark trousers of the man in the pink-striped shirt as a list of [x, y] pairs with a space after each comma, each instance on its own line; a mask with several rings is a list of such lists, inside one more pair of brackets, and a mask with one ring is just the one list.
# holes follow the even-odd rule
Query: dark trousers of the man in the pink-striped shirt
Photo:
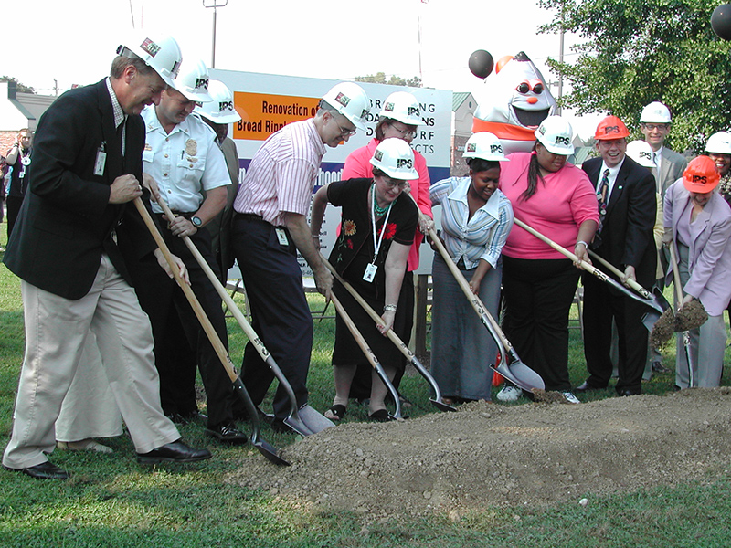
[[[275, 227], [249, 216], [235, 215], [231, 244], [244, 279], [251, 307], [251, 326], [289, 381], [297, 405], [307, 403], [307, 374], [313, 350], [313, 317], [302, 289], [302, 271], [289, 233], [281, 245]], [[260, 405], [274, 374], [249, 342], [241, 379]], [[286, 418], [290, 401], [280, 386], [274, 395], [274, 415]]]

